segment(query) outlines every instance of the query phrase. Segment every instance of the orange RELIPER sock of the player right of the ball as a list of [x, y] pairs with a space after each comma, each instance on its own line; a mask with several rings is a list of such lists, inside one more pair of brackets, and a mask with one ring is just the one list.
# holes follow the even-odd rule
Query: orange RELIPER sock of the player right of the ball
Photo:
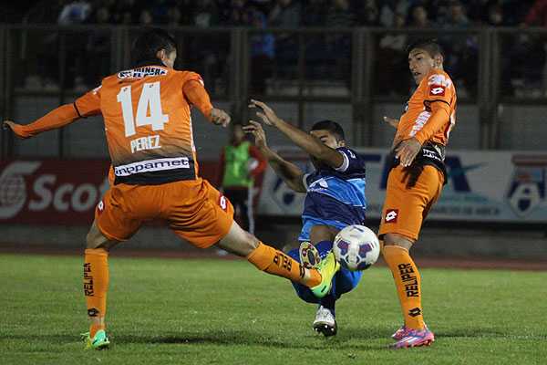
[[385, 245], [382, 254], [395, 280], [405, 326], [416, 329], [425, 328], [418, 267], [404, 247]]

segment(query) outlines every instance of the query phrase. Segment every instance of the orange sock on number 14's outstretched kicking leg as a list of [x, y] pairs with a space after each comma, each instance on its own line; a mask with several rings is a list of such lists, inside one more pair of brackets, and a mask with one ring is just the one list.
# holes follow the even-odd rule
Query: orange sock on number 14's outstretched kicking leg
[[321, 274], [315, 269], [306, 269], [293, 258], [270, 245], [259, 243], [247, 260], [259, 270], [275, 276], [283, 276], [306, 287], [321, 284]]

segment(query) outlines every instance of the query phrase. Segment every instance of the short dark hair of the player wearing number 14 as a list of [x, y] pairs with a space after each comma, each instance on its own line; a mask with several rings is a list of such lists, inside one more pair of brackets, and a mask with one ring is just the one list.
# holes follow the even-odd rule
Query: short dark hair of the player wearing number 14
[[158, 64], [156, 54], [161, 49], [167, 53], [177, 49], [177, 42], [169, 33], [160, 28], [152, 28], [135, 39], [131, 47], [131, 64], [133, 67], [146, 64]]

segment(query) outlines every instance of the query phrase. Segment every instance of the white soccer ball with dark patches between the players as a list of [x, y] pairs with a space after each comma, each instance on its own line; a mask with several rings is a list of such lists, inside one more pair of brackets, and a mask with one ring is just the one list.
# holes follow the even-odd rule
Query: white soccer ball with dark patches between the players
[[377, 262], [380, 243], [365, 225], [348, 225], [336, 235], [333, 252], [342, 267], [350, 271], [366, 270]]

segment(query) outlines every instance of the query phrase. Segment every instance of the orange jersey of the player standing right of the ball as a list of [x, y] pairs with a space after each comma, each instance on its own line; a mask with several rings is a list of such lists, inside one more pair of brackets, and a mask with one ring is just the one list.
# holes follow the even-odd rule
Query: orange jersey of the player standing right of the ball
[[[412, 137], [422, 144], [432, 141], [446, 146], [450, 130], [456, 123], [456, 99], [456, 89], [449, 75], [440, 69], [431, 70], [408, 100], [393, 146]], [[436, 110], [442, 110], [443, 116], [429, 122]]]

